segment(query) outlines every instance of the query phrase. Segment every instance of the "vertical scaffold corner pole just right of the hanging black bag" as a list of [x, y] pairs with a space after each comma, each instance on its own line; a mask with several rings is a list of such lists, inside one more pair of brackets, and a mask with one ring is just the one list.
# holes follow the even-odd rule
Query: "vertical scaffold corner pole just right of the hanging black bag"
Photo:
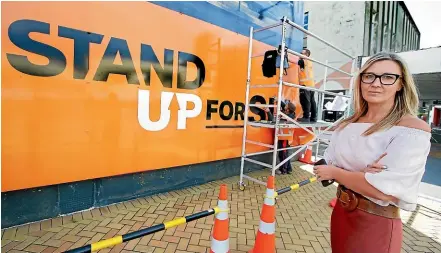
[[279, 68], [279, 90], [277, 94], [277, 109], [275, 110], [275, 116], [276, 116], [276, 125], [274, 127], [274, 150], [273, 150], [273, 168], [271, 171], [271, 175], [276, 174], [276, 166], [277, 166], [277, 148], [278, 148], [278, 132], [279, 132], [279, 115], [280, 115], [280, 106], [282, 104], [282, 90], [283, 90], [283, 68], [285, 67], [285, 36], [286, 36], [286, 17], [283, 16], [282, 18], [282, 43], [281, 43], [281, 50], [280, 52], [280, 68]]

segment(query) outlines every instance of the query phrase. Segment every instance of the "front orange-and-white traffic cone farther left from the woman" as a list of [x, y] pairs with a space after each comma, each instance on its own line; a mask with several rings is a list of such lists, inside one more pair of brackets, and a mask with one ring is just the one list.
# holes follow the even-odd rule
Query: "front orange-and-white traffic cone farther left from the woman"
[[230, 240], [228, 232], [228, 201], [227, 186], [221, 185], [217, 207], [220, 212], [216, 214], [211, 238], [210, 253], [230, 252]]

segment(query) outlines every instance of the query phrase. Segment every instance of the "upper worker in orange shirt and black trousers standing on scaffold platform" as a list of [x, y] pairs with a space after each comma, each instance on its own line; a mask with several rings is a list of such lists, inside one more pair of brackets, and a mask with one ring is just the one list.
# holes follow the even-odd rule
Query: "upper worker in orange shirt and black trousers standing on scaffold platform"
[[[310, 56], [311, 51], [304, 48], [302, 54]], [[312, 70], [312, 62], [300, 59], [298, 62], [300, 66], [299, 80], [300, 85], [306, 87], [314, 87], [314, 73]], [[314, 91], [300, 89], [300, 104], [302, 105], [303, 116], [297, 121], [299, 122], [317, 122], [317, 104], [315, 102]]]

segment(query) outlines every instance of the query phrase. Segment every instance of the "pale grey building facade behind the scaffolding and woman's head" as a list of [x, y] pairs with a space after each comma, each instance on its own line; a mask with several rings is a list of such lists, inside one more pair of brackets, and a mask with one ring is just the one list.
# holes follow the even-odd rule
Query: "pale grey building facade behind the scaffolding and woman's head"
[[[310, 2], [305, 5], [305, 28], [338, 45], [353, 56], [380, 51], [403, 52], [420, 47], [420, 32], [403, 1]], [[305, 37], [304, 47], [314, 58], [331, 66], [351, 70], [348, 57]], [[321, 87], [325, 69], [315, 64], [316, 86]], [[328, 69], [326, 75], [332, 74]], [[340, 78], [340, 77], [338, 77]], [[329, 80], [326, 89], [347, 88], [348, 80]]]

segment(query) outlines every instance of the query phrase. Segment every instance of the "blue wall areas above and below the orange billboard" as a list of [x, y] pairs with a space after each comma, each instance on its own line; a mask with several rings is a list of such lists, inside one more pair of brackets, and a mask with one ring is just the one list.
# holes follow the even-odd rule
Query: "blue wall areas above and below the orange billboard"
[[[283, 16], [303, 25], [302, 2], [153, 2], [244, 36], [249, 28], [279, 22]], [[256, 40], [280, 44], [281, 28], [258, 33]], [[302, 49], [303, 35], [287, 29], [287, 45]], [[254, 158], [270, 163], [271, 155]], [[246, 166], [246, 172], [261, 167]], [[52, 218], [218, 180], [240, 172], [240, 158], [180, 166], [109, 178], [2, 193], [2, 228]], [[158, 184], [161, 181], [165, 183]], [[142, 183], [141, 183], [142, 182]]]

